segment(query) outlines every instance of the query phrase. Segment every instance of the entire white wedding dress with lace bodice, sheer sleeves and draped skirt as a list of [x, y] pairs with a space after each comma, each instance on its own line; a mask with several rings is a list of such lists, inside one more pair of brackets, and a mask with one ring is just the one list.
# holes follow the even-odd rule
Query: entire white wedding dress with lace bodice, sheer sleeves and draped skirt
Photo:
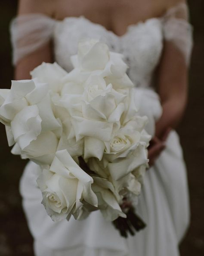
[[[124, 54], [128, 75], [141, 90], [153, 91], [153, 74], [163, 49], [171, 41], [183, 54], [186, 65], [192, 48], [192, 28], [187, 6], [170, 9], [161, 18], [151, 18], [128, 27], [117, 36], [103, 26], [81, 17], [56, 21], [43, 14], [28, 14], [12, 22], [11, 35], [14, 64], [53, 39], [55, 60], [66, 70], [72, 69], [70, 56], [76, 54], [80, 38], [99, 38], [111, 51]], [[155, 120], [161, 114], [156, 93], [152, 101], [143, 102], [146, 115]], [[154, 126], [154, 125], [153, 125]], [[154, 128], [153, 128], [154, 130]], [[166, 149], [147, 171], [137, 213], [147, 227], [127, 239], [95, 211], [83, 221], [53, 222], [40, 204], [37, 165], [29, 162], [20, 182], [23, 207], [34, 237], [36, 256], [178, 256], [178, 244], [189, 224], [189, 197], [185, 163], [179, 138], [172, 131]]]

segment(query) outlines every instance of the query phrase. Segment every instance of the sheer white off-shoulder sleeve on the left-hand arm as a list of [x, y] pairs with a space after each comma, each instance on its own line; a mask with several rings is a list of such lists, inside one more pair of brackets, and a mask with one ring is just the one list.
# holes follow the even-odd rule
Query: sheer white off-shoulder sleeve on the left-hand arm
[[54, 19], [40, 13], [26, 14], [13, 19], [10, 25], [13, 64], [49, 42], [54, 25]]

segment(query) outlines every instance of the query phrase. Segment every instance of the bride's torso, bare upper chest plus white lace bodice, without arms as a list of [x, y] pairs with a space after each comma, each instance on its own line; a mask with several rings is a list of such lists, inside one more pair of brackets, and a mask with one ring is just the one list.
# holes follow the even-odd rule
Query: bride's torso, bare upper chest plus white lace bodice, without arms
[[[71, 4], [71, 1], [68, 2]], [[62, 67], [72, 69], [70, 56], [76, 54], [81, 38], [96, 38], [106, 42], [111, 51], [124, 55], [128, 75], [136, 86], [151, 85], [163, 47], [162, 19], [152, 17], [161, 16], [161, 6], [156, 8], [149, 0], [143, 3], [140, 0], [111, 3], [86, 0], [78, 10], [75, 3], [71, 10], [74, 15], [70, 16], [69, 6], [64, 0], [61, 2], [56, 19], [62, 21], [56, 22], [53, 39], [55, 60]]]

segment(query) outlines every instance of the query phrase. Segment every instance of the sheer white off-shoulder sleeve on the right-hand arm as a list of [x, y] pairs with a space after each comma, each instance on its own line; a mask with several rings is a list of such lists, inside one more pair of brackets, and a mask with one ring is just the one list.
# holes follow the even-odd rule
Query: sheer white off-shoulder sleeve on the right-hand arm
[[189, 23], [189, 9], [186, 3], [170, 8], [164, 16], [164, 40], [173, 42], [189, 64], [193, 39], [192, 25]]

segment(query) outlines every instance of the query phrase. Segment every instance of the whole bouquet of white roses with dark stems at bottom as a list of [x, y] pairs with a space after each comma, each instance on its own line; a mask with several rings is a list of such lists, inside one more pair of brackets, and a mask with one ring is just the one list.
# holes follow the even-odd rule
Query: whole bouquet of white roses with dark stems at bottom
[[0, 90], [0, 122], [12, 154], [41, 166], [37, 183], [53, 221], [100, 210], [127, 236], [145, 227], [133, 206], [151, 136], [122, 57], [102, 42], [80, 41], [70, 73], [43, 63], [31, 80]]

